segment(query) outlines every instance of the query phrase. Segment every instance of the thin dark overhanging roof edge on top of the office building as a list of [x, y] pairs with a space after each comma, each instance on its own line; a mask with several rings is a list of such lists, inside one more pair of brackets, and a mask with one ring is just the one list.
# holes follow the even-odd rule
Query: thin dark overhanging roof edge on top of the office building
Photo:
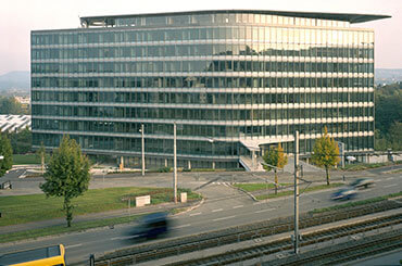
[[390, 15], [374, 15], [374, 14], [354, 14], [354, 13], [322, 13], [322, 12], [299, 12], [299, 11], [273, 11], [273, 10], [202, 10], [202, 11], [183, 11], [183, 12], [166, 12], [166, 13], [146, 13], [146, 14], [126, 14], [126, 15], [102, 15], [102, 16], [83, 16], [80, 22], [95, 22], [124, 17], [145, 17], [160, 15], [188, 15], [188, 14], [237, 14], [252, 13], [266, 15], [281, 15], [293, 17], [309, 17], [319, 20], [344, 21], [350, 23], [363, 23], [381, 18], [389, 18]]

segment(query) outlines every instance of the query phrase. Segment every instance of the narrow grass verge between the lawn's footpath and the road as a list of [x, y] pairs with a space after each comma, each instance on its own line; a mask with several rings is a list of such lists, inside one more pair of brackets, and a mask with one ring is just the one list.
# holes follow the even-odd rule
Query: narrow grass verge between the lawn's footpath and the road
[[74, 223], [73, 220], [72, 227], [70, 228], [66, 226], [52, 226], [52, 227], [47, 227], [47, 228], [41, 228], [41, 229], [4, 233], [4, 235], [1, 235], [0, 243], [20, 241], [20, 240], [33, 239], [33, 238], [35, 239], [35, 238], [61, 235], [61, 233], [66, 233], [66, 232], [77, 232], [77, 231], [83, 231], [83, 230], [97, 228], [97, 227], [125, 224], [125, 223], [134, 221], [138, 219], [140, 215], [133, 215], [130, 217], [125, 216], [125, 217], [116, 217], [116, 218], [90, 220], [90, 221], [79, 221], [79, 223]]

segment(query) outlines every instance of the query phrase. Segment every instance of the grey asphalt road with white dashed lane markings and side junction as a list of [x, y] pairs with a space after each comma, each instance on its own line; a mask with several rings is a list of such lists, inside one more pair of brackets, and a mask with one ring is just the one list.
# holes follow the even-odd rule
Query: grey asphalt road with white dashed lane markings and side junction
[[[402, 188], [402, 174], [386, 174], [388, 168], [376, 170], [373, 173], [376, 186], [366, 190], [360, 190], [359, 195], [353, 201], [360, 201], [378, 195], [400, 192]], [[222, 174], [225, 177], [225, 174]], [[201, 180], [200, 178], [185, 177], [181, 178], [183, 187], [189, 187], [201, 192], [205, 198], [205, 202], [200, 207], [172, 218], [173, 231], [171, 238], [200, 233], [211, 230], [223, 229], [237, 225], [250, 224], [269, 218], [289, 216], [293, 214], [293, 198], [279, 198], [267, 202], [253, 202], [248, 195], [231, 189], [226, 181], [230, 181], [229, 176], [225, 178], [212, 178], [210, 180]], [[98, 177], [97, 186], [109, 186], [109, 180], [102, 183]], [[112, 178], [113, 179], [113, 178]], [[164, 187], [171, 183], [171, 178], [149, 177], [134, 178], [133, 180], [124, 179], [125, 185], [135, 182], [138, 185], [147, 185], [154, 187]], [[114, 183], [123, 182], [122, 177], [115, 177]], [[303, 190], [303, 186], [300, 191]], [[343, 202], [332, 202], [329, 200], [330, 193], [334, 190], [317, 191], [312, 193], [303, 193], [300, 197], [300, 212], [307, 212], [314, 208], [326, 207]], [[100, 228], [80, 233], [71, 233], [60, 237], [40, 239], [36, 241], [26, 241], [13, 244], [1, 244], [1, 253], [30, 249], [40, 245], [63, 243], [66, 248], [67, 263], [88, 259], [89, 254], [100, 254], [102, 252], [113, 251], [121, 248], [127, 248], [135, 243], [127, 240], [127, 231], [134, 225], [121, 225], [113, 229]]]

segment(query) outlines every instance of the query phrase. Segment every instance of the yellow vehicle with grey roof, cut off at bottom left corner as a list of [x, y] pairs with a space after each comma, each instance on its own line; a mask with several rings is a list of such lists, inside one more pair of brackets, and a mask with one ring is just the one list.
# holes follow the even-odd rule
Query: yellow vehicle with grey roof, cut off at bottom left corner
[[65, 266], [64, 245], [51, 245], [0, 255], [0, 265], [14, 266]]

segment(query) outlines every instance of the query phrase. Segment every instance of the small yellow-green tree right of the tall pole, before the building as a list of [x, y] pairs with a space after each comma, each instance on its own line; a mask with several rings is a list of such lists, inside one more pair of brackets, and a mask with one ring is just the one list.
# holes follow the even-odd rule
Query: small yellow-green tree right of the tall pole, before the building
[[318, 166], [325, 167], [327, 185], [329, 185], [329, 168], [340, 162], [339, 148], [328, 135], [327, 127], [324, 127], [324, 135], [315, 140], [312, 160]]

